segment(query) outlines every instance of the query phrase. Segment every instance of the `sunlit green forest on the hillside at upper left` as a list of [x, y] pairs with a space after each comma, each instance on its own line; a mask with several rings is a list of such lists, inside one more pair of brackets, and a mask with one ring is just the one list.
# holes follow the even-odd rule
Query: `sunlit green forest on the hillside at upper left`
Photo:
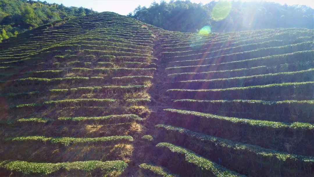
[[46, 1], [0, 0], [0, 40], [51, 21], [93, 13], [92, 9]]

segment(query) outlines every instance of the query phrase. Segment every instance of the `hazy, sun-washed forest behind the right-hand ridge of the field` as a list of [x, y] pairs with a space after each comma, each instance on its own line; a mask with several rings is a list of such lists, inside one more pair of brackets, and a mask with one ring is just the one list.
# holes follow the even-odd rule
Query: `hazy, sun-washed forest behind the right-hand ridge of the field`
[[314, 28], [314, 10], [305, 5], [280, 5], [273, 2], [161, 1], [149, 8], [138, 6], [128, 14], [165, 30], [196, 32], [210, 26], [213, 32], [266, 28]]

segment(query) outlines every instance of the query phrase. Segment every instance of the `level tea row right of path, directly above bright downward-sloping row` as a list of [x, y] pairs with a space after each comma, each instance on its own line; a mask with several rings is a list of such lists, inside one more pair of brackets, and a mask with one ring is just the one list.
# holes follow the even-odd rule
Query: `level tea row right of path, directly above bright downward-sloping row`
[[[221, 116], [280, 122], [314, 123], [314, 101], [175, 100], [176, 108]], [[240, 111], [241, 110], [241, 111]]]

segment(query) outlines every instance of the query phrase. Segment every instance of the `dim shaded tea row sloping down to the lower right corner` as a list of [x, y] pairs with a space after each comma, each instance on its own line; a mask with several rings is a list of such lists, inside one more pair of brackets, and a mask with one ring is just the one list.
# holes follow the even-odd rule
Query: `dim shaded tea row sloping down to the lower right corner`
[[[301, 169], [308, 169], [308, 163], [314, 163], [314, 159], [311, 156], [300, 156], [295, 154], [289, 154], [284, 152], [274, 151], [272, 149], [266, 149], [263, 147], [243, 144], [237, 141], [230, 141], [214, 136], [208, 136], [200, 133], [196, 133], [184, 128], [174, 127], [170, 125], [158, 124], [156, 128], [160, 130], [163, 141], [167, 142], [182, 142], [177, 143], [183, 145], [188, 149], [200, 153], [200, 155], [210, 156], [209, 153], [217, 154], [222, 159], [222, 165], [228, 166], [229, 169], [238, 169], [238, 166], [249, 167], [250, 170], [241, 170], [240, 173], [251, 174], [302, 174], [309, 175], [308, 170], [300, 170], [295, 167], [302, 167]], [[195, 142], [195, 143], [194, 143]], [[219, 154], [219, 155], [218, 155]], [[225, 155], [222, 155], [225, 154]], [[228, 154], [228, 155], [227, 155]], [[238, 154], [241, 154], [239, 156]], [[213, 159], [218, 161], [217, 156]], [[230, 156], [232, 161], [230, 161]], [[260, 165], [258, 162], [254, 162], [253, 159], [262, 159]], [[251, 160], [248, 160], [251, 159]], [[253, 163], [252, 163], [253, 162]], [[279, 165], [280, 164], [280, 167]], [[274, 168], [275, 167], [275, 168]], [[280, 169], [290, 169], [292, 171], [281, 171]], [[267, 169], [267, 170], [265, 170]]]

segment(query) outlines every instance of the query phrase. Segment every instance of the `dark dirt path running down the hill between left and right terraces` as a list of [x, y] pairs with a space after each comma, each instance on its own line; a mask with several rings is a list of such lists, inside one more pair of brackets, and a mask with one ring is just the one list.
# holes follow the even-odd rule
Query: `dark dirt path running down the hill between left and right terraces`
[[141, 163], [154, 163], [158, 159], [158, 155], [156, 154], [155, 145], [157, 142], [153, 142], [151, 144], [147, 144], [142, 141], [141, 137], [144, 135], [152, 135], [156, 133], [155, 125], [162, 124], [166, 118], [165, 111], [163, 109], [169, 108], [170, 97], [165, 95], [168, 84], [167, 74], [165, 72], [166, 63], [163, 62], [163, 56], [160, 54], [162, 51], [162, 47], [160, 46], [160, 36], [159, 30], [154, 28], [149, 28], [149, 30], [154, 32], [154, 47], [153, 47], [153, 56], [158, 60], [156, 63], [156, 71], [154, 73], [154, 78], [152, 80], [152, 86], [148, 90], [150, 95], [151, 103], [149, 103], [148, 109], [149, 113], [143, 120], [142, 131], [138, 136], [134, 138], [133, 142], [133, 159], [132, 162], [128, 165], [127, 169], [124, 171], [122, 176], [147, 176], [145, 172], [143, 172], [138, 165]]

